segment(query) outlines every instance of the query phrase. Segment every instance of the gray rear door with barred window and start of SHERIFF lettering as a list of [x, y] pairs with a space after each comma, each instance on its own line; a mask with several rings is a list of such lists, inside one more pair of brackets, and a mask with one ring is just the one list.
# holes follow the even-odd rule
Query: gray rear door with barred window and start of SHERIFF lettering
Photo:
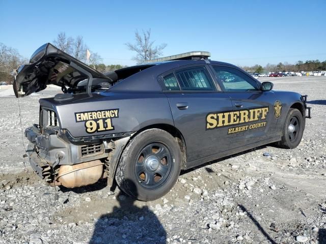
[[183, 66], [158, 79], [169, 99], [174, 124], [184, 137], [188, 162], [229, 149], [227, 128], [213, 127], [216, 120], [209, 114], [233, 110], [232, 102], [216, 86], [207, 65]]

